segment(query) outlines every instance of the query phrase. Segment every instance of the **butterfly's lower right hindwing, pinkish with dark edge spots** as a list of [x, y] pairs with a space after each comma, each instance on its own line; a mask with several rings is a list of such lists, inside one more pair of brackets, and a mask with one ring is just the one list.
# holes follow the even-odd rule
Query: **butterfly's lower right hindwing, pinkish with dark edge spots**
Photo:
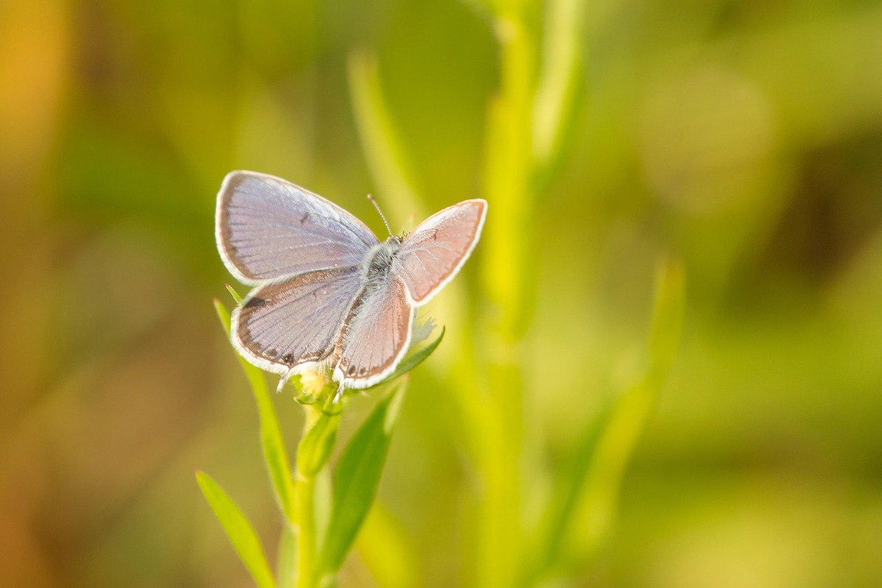
[[367, 284], [349, 314], [333, 378], [347, 388], [367, 388], [392, 373], [407, 351], [414, 310], [404, 283], [387, 275]]

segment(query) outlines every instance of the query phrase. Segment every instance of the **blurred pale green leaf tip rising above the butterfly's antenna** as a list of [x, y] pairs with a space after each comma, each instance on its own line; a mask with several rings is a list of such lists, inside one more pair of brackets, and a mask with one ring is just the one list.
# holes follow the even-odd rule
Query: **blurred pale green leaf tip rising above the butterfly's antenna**
[[349, 94], [358, 136], [370, 175], [382, 192], [392, 217], [422, 216], [413, 167], [407, 148], [386, 108], [377, 72], [377, 58], [366, 53], [349, 56]]

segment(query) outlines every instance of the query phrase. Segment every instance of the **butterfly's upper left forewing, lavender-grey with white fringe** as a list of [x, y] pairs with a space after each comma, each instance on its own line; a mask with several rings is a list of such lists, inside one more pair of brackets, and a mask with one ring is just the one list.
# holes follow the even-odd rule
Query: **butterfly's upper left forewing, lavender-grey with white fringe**
[[251, 171], [227, 175], [216, 216], [221, 257], [243, 283], [357, 266], [377, 245], [363, 222], [333, 202]]

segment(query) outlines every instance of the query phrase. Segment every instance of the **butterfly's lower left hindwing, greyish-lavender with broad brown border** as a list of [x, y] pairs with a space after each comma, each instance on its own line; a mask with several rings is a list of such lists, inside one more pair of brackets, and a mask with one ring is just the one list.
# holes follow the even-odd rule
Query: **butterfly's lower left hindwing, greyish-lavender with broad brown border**
[[334, 350], [361, 287], [357, 267], [259, 286], [233, 314], [233, 341], [252, 363], [277, 373], [322, 361]]

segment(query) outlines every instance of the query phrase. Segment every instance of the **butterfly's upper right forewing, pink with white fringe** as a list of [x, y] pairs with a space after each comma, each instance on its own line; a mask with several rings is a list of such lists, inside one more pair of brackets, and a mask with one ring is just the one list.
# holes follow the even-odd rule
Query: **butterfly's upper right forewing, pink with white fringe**
[[417, 305], [460, 270], [481, 237], [486, 215], [486, 200], [464, 200], [431, 215], [404, 238], [392, 270]]

